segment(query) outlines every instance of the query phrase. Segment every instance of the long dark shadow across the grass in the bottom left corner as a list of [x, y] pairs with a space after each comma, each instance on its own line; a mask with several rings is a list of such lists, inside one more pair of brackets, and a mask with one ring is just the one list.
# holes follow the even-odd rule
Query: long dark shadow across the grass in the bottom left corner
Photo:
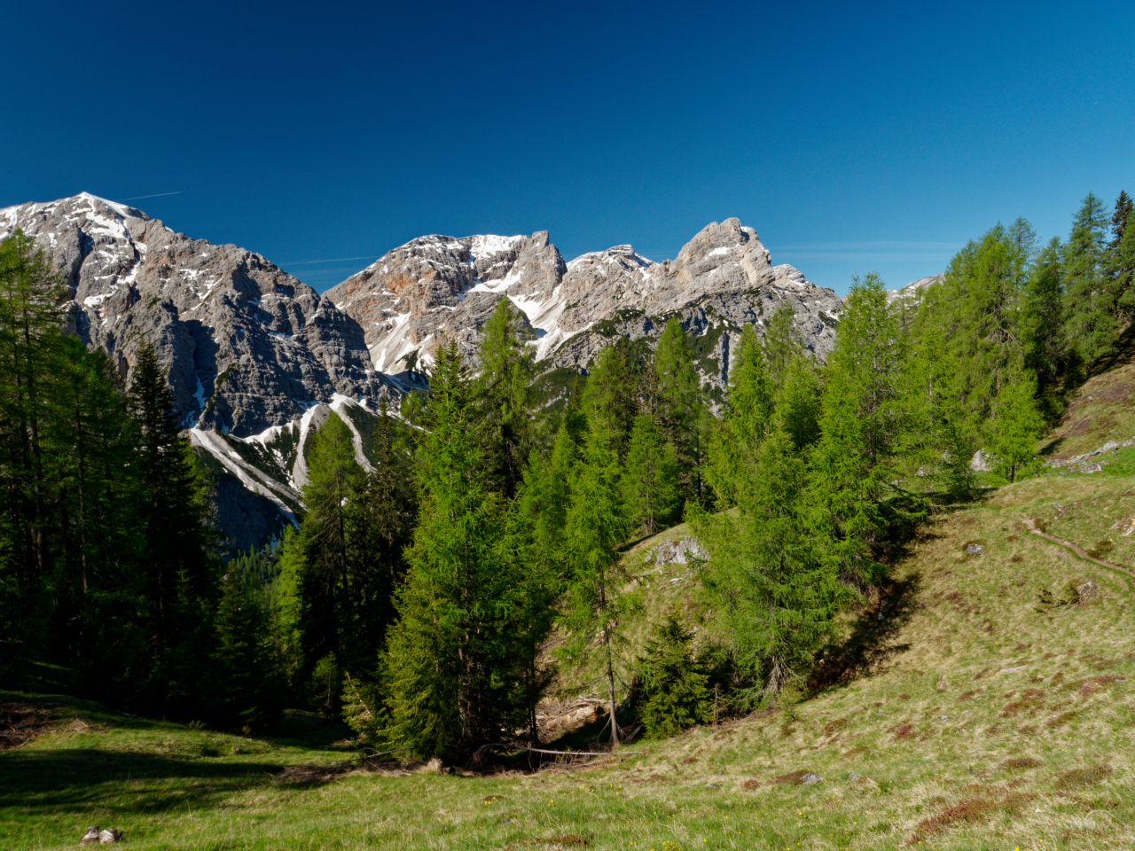
[[207, 762], [95, 748], [28, 748], [0, 755], [0, 810], [161, 811], [210, 806], [278, 776], [283, 768], [276, 762]]

